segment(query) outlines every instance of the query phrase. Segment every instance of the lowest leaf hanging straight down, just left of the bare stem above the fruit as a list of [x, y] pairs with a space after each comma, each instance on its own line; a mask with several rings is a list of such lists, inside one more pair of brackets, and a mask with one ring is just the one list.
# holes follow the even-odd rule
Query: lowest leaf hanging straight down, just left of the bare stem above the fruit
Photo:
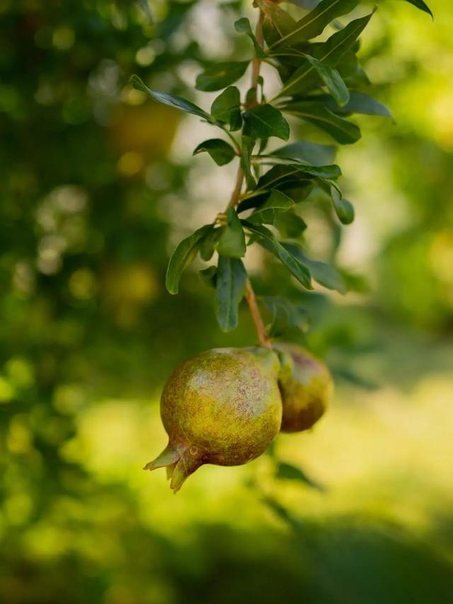
[[217, 265], [215, 314], [224, 332], [236, 329], [238, 310], [245, 289], [247, 273], [241, 260], [219, 256]]

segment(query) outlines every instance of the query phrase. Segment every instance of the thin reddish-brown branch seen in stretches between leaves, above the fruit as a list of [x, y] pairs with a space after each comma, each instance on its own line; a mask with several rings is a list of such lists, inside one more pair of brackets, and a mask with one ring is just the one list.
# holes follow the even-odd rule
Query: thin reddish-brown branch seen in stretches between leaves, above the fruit
[[[264, 48], [264, 40], [263, 40], [263, 21], [264, 21], [264, 13], [259, 8], [260, 16], [258, 17], [258, 22], [256, 23], [255, 37], [261, 48]], [[260, 76], [260, 67], [261, 67], [261, 59], [255, 55], [253, 57], [252, 64], [252, 78], [251, 78], [251, 88], [258, 87], [258, 78]], [[252, 100], [246, 104], [246, 109], [251, 109], [258, 105], [257, 95], [255, 95]], [[239, 203], [239, 198], [241, 197], [241, 189], [243, 185], [243, 180], [245, 178], [243, 169], [241, 165], [239, 165], [238, 172], [236, 175], [236, 185], [234, 187], [233, 192], [231, 193], [231, 198], [229, 200], [228, 205], [226, 206], [225, 213], [229, 208], [234, 208]], [[256, 301], [255, 291], [253, 291], [252, 284], [250, 279], [246, 281], [246, 301], [248, 303], [248, 308], [250, 309], [251, 317], [253, 323], [255, 325], [256, 333], [258, 335], [258, 341], [260, 345], [265, 348], [272, 348], [270, 344], [270, 339], [268, 333], [265, 330], [265, 326], [263, 323], [263, 317], [261, 316], [260, 309], [258, 308], [258, 302]]]

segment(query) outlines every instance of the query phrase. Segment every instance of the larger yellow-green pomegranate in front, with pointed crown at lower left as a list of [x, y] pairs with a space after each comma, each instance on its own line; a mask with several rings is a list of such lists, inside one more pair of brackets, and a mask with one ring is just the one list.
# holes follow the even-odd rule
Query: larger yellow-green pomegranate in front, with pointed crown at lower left
[[167, 467], [178, 491], [200, 465], [241, 465], [280, 430], [277, 354], [265, 348], [202, 352], [173, 371], [161, 397], [168, 446], [145, 470]]

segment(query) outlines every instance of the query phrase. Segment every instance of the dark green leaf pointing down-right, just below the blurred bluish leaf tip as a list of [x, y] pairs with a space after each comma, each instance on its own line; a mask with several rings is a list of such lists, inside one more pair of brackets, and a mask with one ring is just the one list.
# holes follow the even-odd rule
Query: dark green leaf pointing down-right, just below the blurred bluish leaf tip
[[299, 101], [288, 103], [281, 108], [282, 111], [302, 117], [307, 122], [327, 132], [338, 143], [348, 145], [357, 142], [362, 134], [360, 128], [343, 117], [339, 117], [331, 110], [315, 101]]

